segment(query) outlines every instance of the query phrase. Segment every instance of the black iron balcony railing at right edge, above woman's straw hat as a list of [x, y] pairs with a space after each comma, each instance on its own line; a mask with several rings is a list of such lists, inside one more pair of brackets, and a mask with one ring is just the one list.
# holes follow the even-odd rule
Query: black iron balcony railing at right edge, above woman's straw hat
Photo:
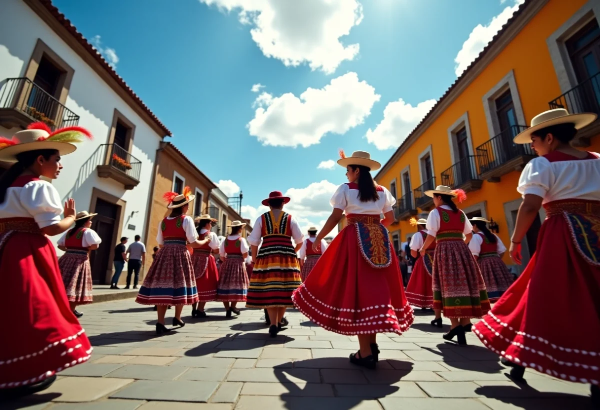
[[590, 77], [548, 103], [550, 108], [566, 108], [570, 114], [600, 114], [600, 73]]

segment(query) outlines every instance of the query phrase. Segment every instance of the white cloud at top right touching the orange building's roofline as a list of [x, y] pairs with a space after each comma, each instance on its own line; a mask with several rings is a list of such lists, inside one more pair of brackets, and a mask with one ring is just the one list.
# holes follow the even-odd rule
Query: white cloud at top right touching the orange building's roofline
[[[508, 0], [501, 0], [500, 3], [503, 4], [506, 1]], [[478, 24], [475, 26], [471, 34], [469, 34], [469, 38], [463, 43], [463, 47], [454, 58], [454, 62], [456, 63], [454, 72], [457, 77], [463, 74], [463, 71], [469, 67], [469, 64], [479, 56], [479, 53], [490, 43], [494, 35], [508, 22], [508, 19], [512, 17], [512, 14], [517, 11], [524, 1], [511, 0], [513, 5], [506, 7], [500, 14], [494, 16], [488, 25]]]

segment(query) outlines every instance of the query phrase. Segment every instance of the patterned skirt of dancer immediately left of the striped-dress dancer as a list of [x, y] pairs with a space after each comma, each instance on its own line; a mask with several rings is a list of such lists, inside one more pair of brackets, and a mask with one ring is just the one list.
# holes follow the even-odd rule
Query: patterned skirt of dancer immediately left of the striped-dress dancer
[[246, 302], [248, 274], [242, 255], [227, 255], [219, 272], [217, 300], [219, 302]]

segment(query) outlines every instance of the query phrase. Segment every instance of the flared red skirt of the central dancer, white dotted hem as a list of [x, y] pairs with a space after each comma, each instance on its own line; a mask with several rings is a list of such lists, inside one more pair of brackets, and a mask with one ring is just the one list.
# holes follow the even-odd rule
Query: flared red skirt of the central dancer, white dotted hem
[[394, 252], [388, 267], [373, 267], [358, 243], [355, 224], [331, 242], [296, 291], [294, 305], [311, 321], [340, 334], [397, 333], [413, 322]]

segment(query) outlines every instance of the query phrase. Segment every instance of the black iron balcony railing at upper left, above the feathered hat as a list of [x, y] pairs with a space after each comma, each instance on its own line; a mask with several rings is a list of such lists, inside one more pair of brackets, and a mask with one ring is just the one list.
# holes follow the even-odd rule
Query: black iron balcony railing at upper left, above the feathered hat
[[[7, 79], [0, 91], [0, 108], [10, 109], [25, 114], [24, 119], [14, 119], [15, 125], [26, 125], [23, 122], [41, 121], [50, 128], [75, 126], [79, 116], [62, 105], [46, 91], [27, 78]], [[3, 119], [7, 116], [2, 114]]]

